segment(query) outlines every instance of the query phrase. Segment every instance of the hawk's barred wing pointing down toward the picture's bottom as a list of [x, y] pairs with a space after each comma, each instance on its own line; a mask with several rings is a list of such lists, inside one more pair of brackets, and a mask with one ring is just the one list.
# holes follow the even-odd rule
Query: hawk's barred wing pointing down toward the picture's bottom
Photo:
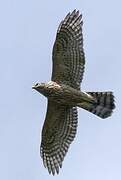
[[77, 130], [77, 108], [48, 102], [40, 147], [44, 166], [53, 175], [59, 173], [62, 161]]

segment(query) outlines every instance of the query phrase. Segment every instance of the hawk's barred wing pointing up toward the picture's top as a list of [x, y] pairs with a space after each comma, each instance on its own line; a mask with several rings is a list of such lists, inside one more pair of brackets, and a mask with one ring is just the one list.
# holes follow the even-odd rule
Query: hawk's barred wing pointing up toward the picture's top
[[52, 80], [80, 88], [85, 57], [83, 51], [82, 15], [74, 10], [60, 23], [53, 47]]

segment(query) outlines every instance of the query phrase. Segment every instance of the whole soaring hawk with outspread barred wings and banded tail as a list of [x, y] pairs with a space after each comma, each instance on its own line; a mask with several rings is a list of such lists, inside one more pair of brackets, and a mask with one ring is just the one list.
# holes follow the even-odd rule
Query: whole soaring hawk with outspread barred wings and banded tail
[[40, 155], [49, 173], [59, 173], [62, 162], [77, 131], [77, 107], [100, 118], [107, 118], [115, 107], [111, 91], [83, 92], [85, 56], [82, 15], [74, 10], [61, 21], [52, 53], [52, 77], [32, 88], [48, 99], [42, 129]]

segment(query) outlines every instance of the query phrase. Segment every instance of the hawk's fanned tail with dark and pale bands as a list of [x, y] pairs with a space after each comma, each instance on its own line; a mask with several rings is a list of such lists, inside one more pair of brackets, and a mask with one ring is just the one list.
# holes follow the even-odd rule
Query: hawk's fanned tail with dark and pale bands
[[87, 94], [91, 95], [95, 99], [95, 103], [80, 103], [80, 107], [103, 119], [111, 116], [112, 111], [115, 108], [112, 92], [87, 92]]

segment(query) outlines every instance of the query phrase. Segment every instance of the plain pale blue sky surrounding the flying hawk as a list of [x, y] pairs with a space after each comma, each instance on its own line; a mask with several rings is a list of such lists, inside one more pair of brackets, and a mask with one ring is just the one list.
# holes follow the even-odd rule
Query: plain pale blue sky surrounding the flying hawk
[[[39, 156], [46, 98], [33, 91], [49, 81], [60, 21], [83, 14], [86, 68], [82, 90], [114, 92], [116, 109], [105, 121], [79, 109], [75, 141], [58, 176]], [[0, 1], [0, 179], [121, 180], [121, 1]]]

